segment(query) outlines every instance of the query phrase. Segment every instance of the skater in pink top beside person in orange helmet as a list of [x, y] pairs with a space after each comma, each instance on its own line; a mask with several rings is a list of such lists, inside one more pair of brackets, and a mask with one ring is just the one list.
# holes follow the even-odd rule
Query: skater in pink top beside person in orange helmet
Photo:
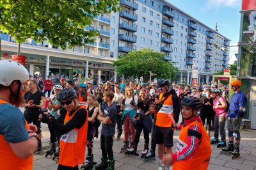
[[[226, 108], [227, 103], [225, 98], [221, 97], [220, 91], [218, 89], [211, 89], [211, 96], [214, 98], [212, 109], [215, 111], [214, 117], [214, 138], [211, 139], [211, 144], [218, 144], [217, 148], [225, 147], [226, 145], [226, 132], [225, 132], [225, 122], [226, 122]], [[221, 141], [219, 141], [219, 129], [221, 135]]]

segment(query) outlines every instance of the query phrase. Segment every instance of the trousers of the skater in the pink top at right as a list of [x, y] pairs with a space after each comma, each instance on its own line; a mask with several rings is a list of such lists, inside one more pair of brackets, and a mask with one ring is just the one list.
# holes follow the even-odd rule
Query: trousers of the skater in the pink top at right
[[220, 136], [221, 140], [226, 140], [226, 132], [225, 132], [225, 116], [216, 116], [214, 117], [214, 137], [219, 137], [219, 128], [220, 128]]

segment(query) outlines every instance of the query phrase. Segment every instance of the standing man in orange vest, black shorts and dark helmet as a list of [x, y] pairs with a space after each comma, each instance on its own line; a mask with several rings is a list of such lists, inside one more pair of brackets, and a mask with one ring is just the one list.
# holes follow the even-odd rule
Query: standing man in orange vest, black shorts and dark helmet
[[173, 125], [169, 116], [172, 116], [176, 122], [179, 121], [180, 99], [175, 90], [170, 88], [170, 81], [163, 79], [158, 82], [158, 85], [159, 91], [161, 91], [159, 103], [154, 108], [155, 110], [151, 108], [151, 112], [157, 112], [154, 139], [155, 143], [158, 144], [158, 155], [161, 164], [159, 169], [164, 169], [164, 164], [161, 162], [164, 150], [170, 154], [173, 146]]

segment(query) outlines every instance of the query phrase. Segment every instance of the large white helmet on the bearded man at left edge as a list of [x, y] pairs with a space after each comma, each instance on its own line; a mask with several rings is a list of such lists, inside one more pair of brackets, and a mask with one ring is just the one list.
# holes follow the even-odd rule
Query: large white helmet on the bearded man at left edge
[[28, 70], [16, 61], [0, 60], [0, 68], [0, 84], [3, 86], [10, 86], [13, 81], [24, 83], [29, 79]]

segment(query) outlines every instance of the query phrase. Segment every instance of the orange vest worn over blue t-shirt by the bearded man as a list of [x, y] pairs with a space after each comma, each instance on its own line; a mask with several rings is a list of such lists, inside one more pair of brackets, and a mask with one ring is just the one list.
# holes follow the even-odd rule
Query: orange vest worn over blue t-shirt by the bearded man
[[[0, 99], [0, 104], [8, 104], [3, 99]], [[28, 123], [25, 120], [26, 129], [29, 129]], [[29, 158], [20, 158], [12, 150], [10, 144], [4, 140], [4, 135], [0, 135], [0, 169], [20, 169], [28, 170], [33, 168], [33, 154]]]

